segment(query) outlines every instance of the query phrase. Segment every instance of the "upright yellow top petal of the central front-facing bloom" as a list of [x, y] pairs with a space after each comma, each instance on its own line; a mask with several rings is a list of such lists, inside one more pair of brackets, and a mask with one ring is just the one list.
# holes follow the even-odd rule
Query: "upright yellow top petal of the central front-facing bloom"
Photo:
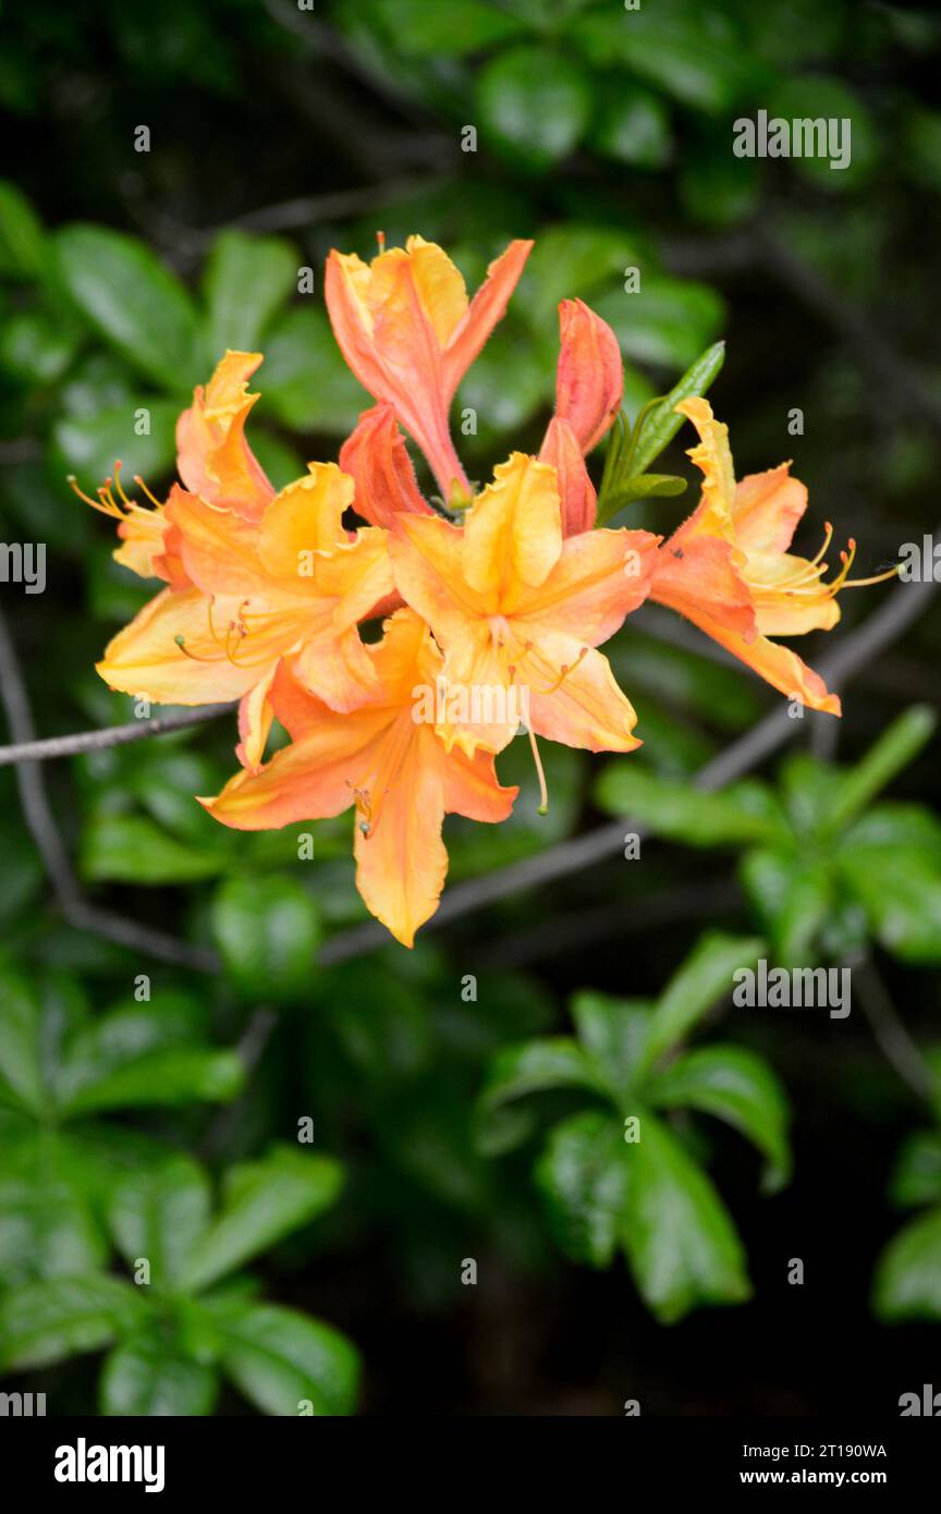
[[502, 604], [519, 586], [545, 581], [561, 554], [555, 472], [513, 453], [493, 471], [464, 525], [463, 574], [472, 589]]

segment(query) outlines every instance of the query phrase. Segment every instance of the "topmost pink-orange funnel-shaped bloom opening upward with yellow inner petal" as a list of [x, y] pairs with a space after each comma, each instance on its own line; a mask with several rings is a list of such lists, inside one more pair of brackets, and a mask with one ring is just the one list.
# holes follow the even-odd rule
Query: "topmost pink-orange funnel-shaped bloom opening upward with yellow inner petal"
[[369, 394], [395, 407], [445, 501], [471, 494], [448, 428], [454, 392], [504, 315], [531, 247], [511, 242], [472, 301], [448, 254], [422, 236], [371, 263], [356, 253], [327, 259], [327, 309], [340, 351]]

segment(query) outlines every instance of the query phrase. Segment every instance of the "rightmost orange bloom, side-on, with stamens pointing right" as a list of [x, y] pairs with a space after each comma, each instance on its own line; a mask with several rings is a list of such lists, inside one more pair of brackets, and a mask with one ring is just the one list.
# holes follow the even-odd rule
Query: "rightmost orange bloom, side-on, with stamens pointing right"
[[708, 401], [684, 400], [676, 410], [699, 431], [688, 456], [702, 469], [702, 497], [660, 548], [651, 600], [685, 615], [788, 698], [840, 715], [840, 699], [823, 680], [769, 637], [829, 631], [840, 619], [840, 590], [880, 578], [847, 581], [856, 551], [850, 540], [849, 553], [840, 554], [840, 572], [825, 581], [829, 525], [812, 560], [788, 553], [806, 510], [806, 489], [791, 478], [790, 463], [737, 484], [728, 427], [714, 419]]

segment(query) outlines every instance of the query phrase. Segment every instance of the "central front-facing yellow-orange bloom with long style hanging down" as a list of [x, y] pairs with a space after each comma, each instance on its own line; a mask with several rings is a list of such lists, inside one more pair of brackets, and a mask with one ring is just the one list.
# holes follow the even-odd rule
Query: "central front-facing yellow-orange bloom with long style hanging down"
[[555, 472], [522, 453], [496, 469], [463, 530], [396, 515], [396, 587], [434, 631], [446, 683], [466, 696], [466, 718], [442, 722], [448, 743], [502, 751], [522, 722], [590, 751], [640, 745], [634, 710], [595, 648], [643, 603], [657, 542], [649, 531], [563, 542]]

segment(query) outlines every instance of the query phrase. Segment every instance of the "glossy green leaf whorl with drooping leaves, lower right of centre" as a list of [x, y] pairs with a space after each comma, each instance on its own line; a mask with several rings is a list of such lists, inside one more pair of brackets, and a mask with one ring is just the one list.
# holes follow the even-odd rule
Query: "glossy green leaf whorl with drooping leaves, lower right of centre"
[[707, 934], [654, 1004], [576, 995], [578, 1039], [507, 1048], [480, 1098], [478, 1142], [490, 1154], [533, 1134], [534, 1117], [520, 1117], [516, 1102], [526, 1095], [578, 1089], [605, 1105], [554, 1125], [536, 1185], [566, 1255], [608, 1267], [622, 1249], [664, 1323], [703, 1304], [743, 1302], [750, 1287], [728, 1210], [681, 1128], [654, 1111], [697, 1110], [738, 1129], [766, 1158], [769, 1190], [790, 1173], [787, 1104], [767, 1063], [743, 1046], [682, 1049], [761, 949]]

